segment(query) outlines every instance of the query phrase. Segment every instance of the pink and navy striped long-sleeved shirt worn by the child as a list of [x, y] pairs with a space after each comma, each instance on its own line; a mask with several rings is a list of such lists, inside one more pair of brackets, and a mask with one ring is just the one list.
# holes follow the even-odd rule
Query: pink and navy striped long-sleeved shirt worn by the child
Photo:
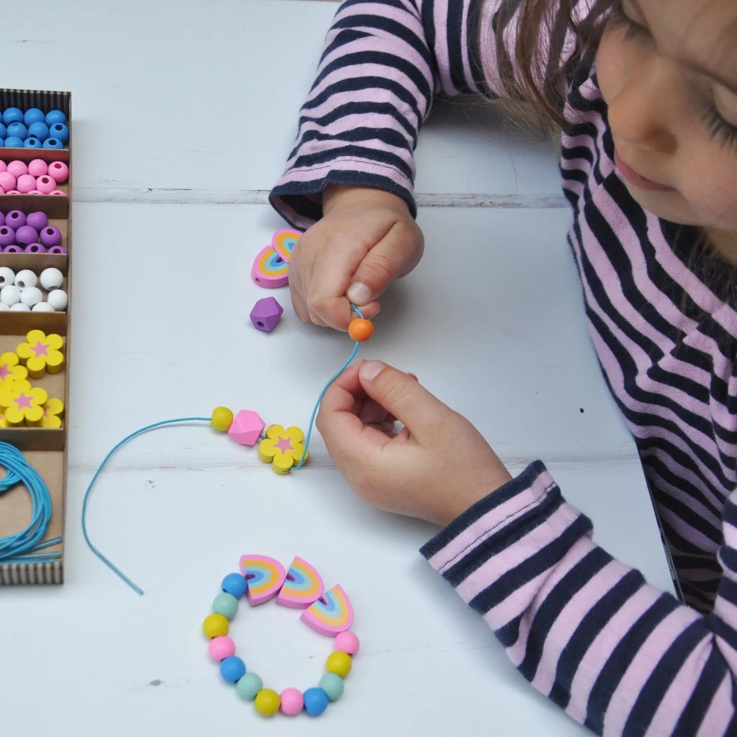
[[[519, 2], [480, 3], [340, 6], [271, 193], [293, 226], [321, 217], [328, 183], [380, 187], [416, 212], [413, 150], [433, 95], [505, 94], [494, 82], [492, 24], [504, 18], [513, 33], [510, 13], [499, 10]], [[574, 49], [559, 52], [559, 69]], [[541, 461], [422, 554], [532, 685], [596, 733], [737, 734], [737, 312], [693, 258], [695, 234], [630, 197], [595, 64], [581, 60], [566, 84], [574, 125], [563, 136], [561, 171], [587, 321], [685, 604], [599, 548], [590, 520], [565, 502]]]

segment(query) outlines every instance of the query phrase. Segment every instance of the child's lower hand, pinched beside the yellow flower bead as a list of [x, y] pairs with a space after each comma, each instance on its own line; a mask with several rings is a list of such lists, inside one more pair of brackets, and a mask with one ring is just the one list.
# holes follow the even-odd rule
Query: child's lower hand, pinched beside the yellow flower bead
[[[394, 420], [405, 427], [394, 433]], [[379, 361], [328, 388], [317, 427], [335, 465], [368, 503], [447, 525], [511, 475], [481, 433], [411, 374]]]

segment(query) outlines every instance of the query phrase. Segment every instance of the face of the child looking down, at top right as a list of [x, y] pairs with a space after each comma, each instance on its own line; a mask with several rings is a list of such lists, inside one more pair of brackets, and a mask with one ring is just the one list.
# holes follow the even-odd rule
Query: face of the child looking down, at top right
[[659, 217], [737, 235], [737, 2], [622, 0], [596, 60], [616, 162]]

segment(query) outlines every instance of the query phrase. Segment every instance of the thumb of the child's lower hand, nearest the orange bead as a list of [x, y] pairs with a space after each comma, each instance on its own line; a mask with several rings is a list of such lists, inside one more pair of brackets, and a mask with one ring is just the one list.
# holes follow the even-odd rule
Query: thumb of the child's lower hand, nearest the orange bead
[[381, 361], [366, 361], [358, 372], [363, 390], [393, 414], [419, 441], [447, 426], [452, 411], [412, 374]]

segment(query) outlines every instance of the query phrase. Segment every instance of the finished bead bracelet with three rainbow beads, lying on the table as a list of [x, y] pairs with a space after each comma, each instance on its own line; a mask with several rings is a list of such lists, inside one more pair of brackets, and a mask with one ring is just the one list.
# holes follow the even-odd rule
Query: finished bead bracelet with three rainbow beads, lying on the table
[[[320, 574], [307, 561], [295, 557], [289, 573], [279, 561], [268, 556], [241, 556], [242, 573], [228, 573], [221, 584], [222, 593], [213, 603], [213, 613], [205, 618], [202, 629], [210, 638], [209, 653], [220, 663], [220, 675], [234, 683], [242, 699], [253, 700], [262, 716], [274, 716], [280, 709], [295, 716], [303, 709], [319, 716], [331, 701], [343, 695], [343, 679], [351, 672], [352, 656], [360, 643], [353, 632], [353, 607], [348, 595], [336, 585], [324, 592]], [[245, 663], [235, 654], [235, 643], [228, 637], [230, 621], [238, 612], [238, 601], [246, 596], [252, 607], [273, 597], [276, 603], [293, 609], [304, 609], [301, 620], [322, 635], [335, 637], [335, 651], [329, 654], [326, 674], [315, 688], [304, 694], [297, 688], [285, 688], [277, 694], [264, 688], [258, 675], [246, 672]]]

